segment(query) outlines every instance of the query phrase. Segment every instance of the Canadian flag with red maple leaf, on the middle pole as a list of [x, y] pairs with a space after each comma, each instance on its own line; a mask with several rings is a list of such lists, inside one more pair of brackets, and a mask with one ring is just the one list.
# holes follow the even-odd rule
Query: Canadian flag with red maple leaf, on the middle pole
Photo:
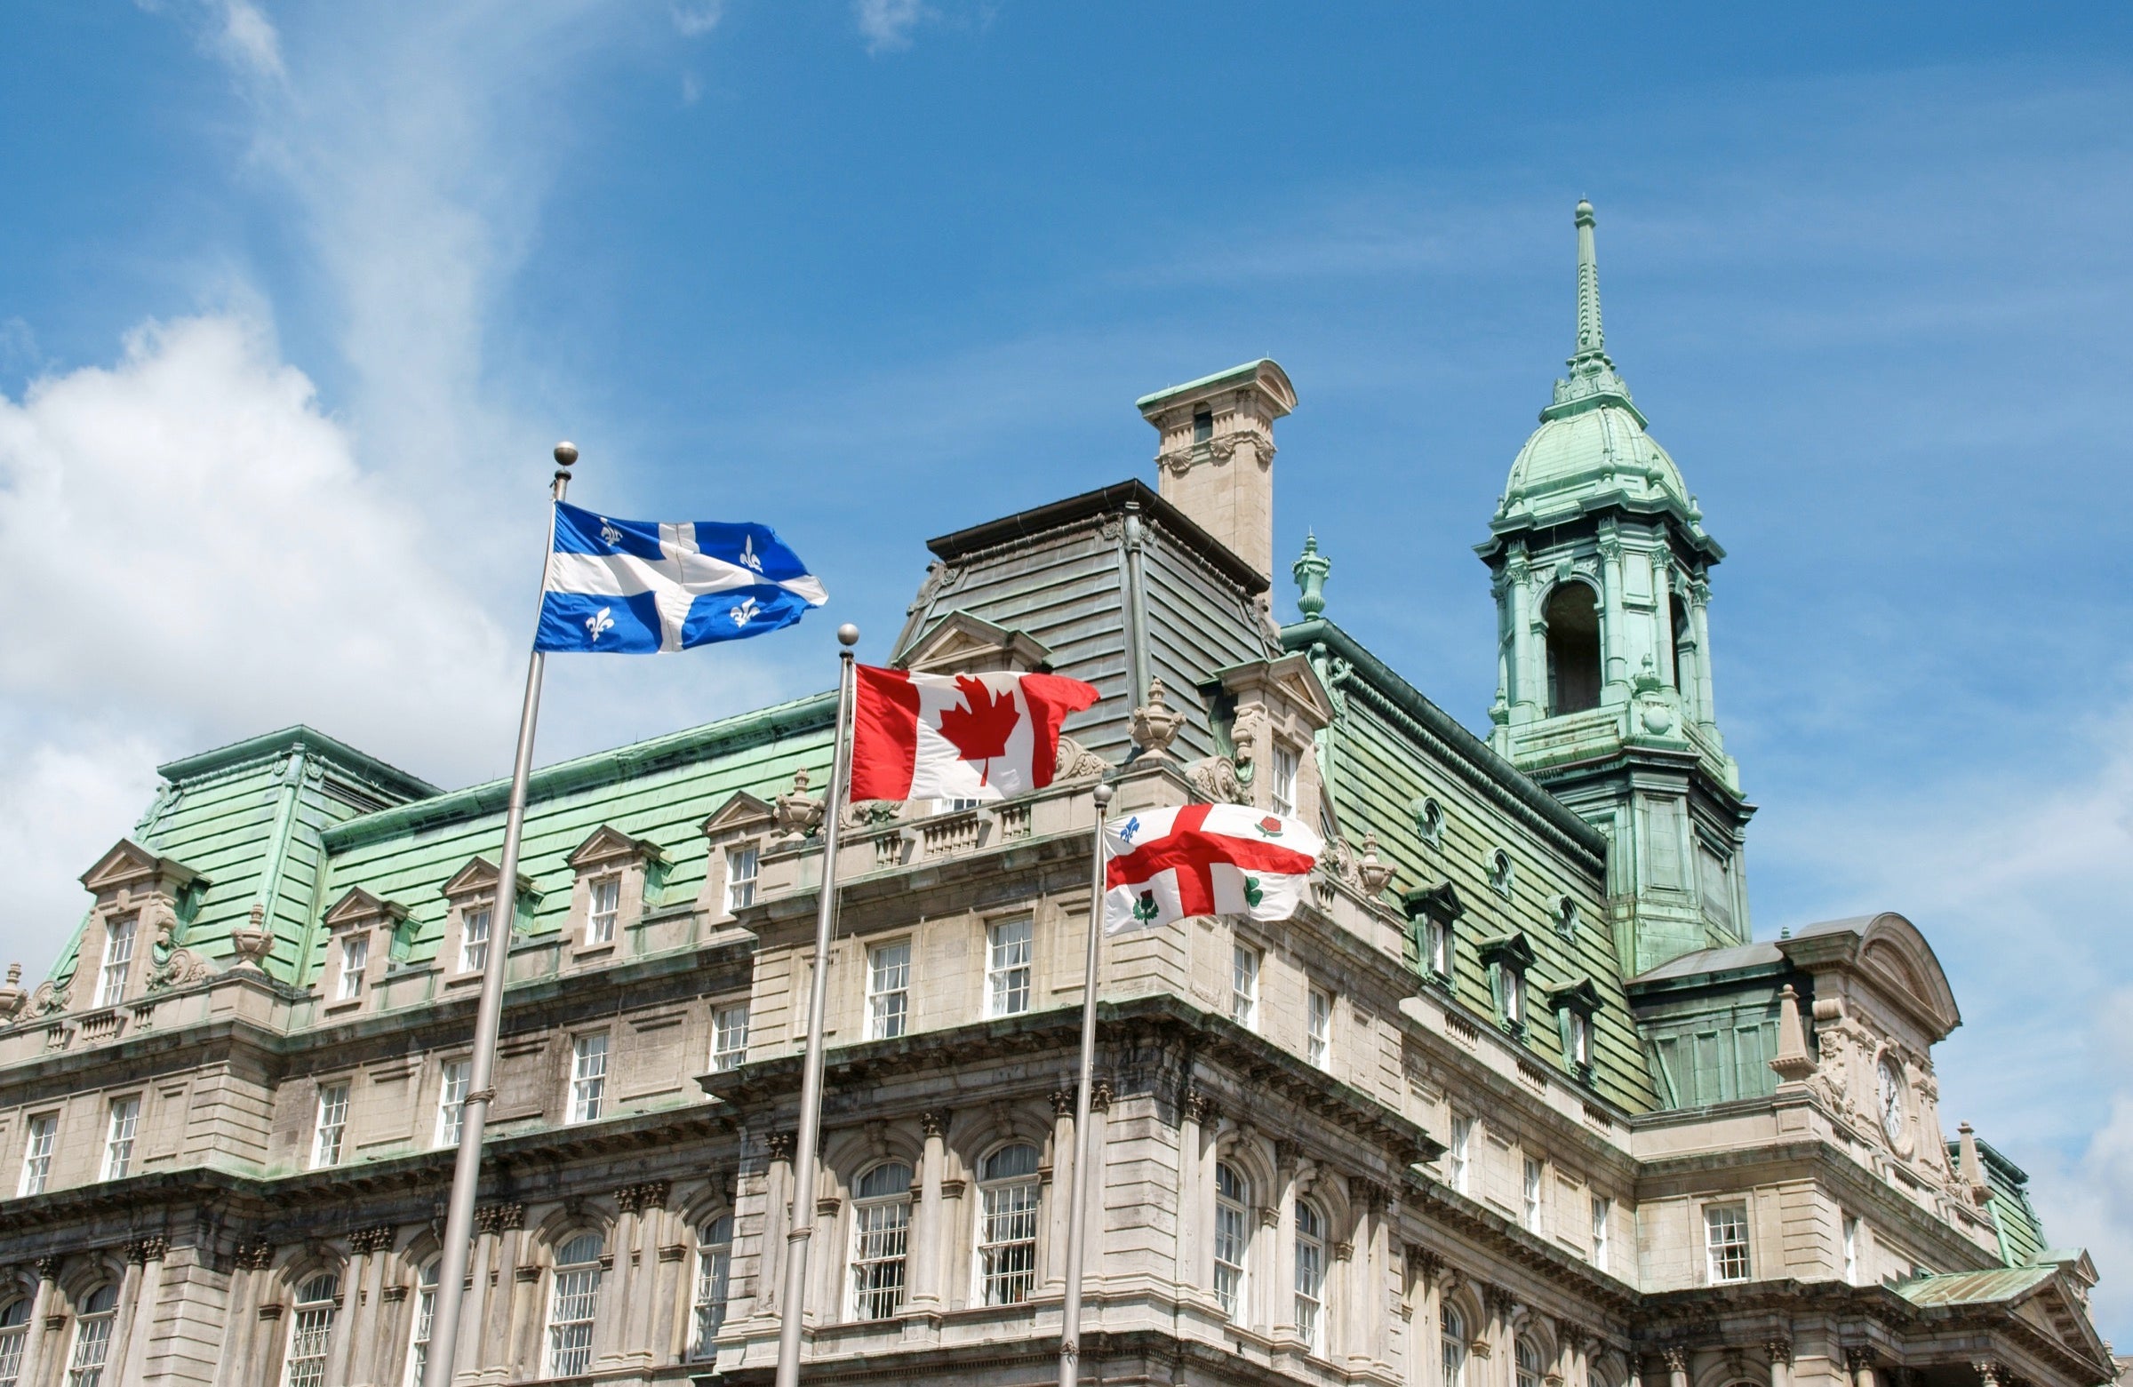
[[1052, 783], [1060, 723], [1096, 689], [1058, 674], [911, 674], [860, 666], [853, 800], [1000, 800]]

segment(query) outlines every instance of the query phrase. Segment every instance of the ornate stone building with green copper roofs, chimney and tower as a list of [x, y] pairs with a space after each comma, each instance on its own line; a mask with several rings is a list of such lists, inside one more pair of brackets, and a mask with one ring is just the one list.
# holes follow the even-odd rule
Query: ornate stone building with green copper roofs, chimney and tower
[[[806, 1378], [1049, 1381], [1092, 787], [1322, 824], [1280, 926], [1105, 945], [1084, 1370], [1312, 1387], [2092, 1387], [2095, 1270], [1937, 1110], [1896, 913], [1755, 941], [1711, 570], [1600, 335], [1480, 555], [1476, 738], [1271, 619], [1271, 361], [1122, 482], [930, 542], [894, 661], [1103, 698], [1052, 787], [838, 807]], [[162, 766], [0, 990], [0, 1385], [401, 1387], [480, 971], [510, 990], [461, 1383], [770, 1381], [830, 696], [444, 792], [309, 728]]]

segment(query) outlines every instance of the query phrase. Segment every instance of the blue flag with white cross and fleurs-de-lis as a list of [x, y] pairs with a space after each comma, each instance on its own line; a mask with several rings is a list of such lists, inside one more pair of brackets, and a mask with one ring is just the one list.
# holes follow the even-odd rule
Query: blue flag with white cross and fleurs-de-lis
[[768, 525], [610, 521], [557, 501], [533, 649], [687, 651], [774, 632], [828, 600]]

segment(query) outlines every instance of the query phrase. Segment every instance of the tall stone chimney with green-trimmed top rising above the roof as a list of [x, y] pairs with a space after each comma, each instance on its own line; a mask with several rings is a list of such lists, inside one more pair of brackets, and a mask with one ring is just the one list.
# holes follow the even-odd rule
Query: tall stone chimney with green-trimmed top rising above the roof
[[1273, 576], [1273, 420], [1297, 408], [1288, 373], [1248, 361], [1135, 401], [1156, 427], [1156, 491]]

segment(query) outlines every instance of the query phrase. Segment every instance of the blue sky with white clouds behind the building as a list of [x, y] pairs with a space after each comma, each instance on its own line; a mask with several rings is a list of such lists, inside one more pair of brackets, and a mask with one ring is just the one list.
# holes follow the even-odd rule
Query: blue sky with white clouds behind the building
[[[1271, 354], [1278, 553], [1316, 527], [1329, 612], [1480, 723], [1470, 546], [1570, 348], [1583, 194], [1608, 346], [1730, 548], [1758, 930], [1928, 930], [1950, 1125], [2133, 1338], [2122, 6], [96, 0], [0, 34], [32, 973], [156, 760], [303, 719], [506, 768], [563, 435], [578, 499], [779, 525], [879, 655], [926, 536], [1148, 478], [1130, 401]], [[825, 638], [557, 661], [542, 749], [819, 687]]]

